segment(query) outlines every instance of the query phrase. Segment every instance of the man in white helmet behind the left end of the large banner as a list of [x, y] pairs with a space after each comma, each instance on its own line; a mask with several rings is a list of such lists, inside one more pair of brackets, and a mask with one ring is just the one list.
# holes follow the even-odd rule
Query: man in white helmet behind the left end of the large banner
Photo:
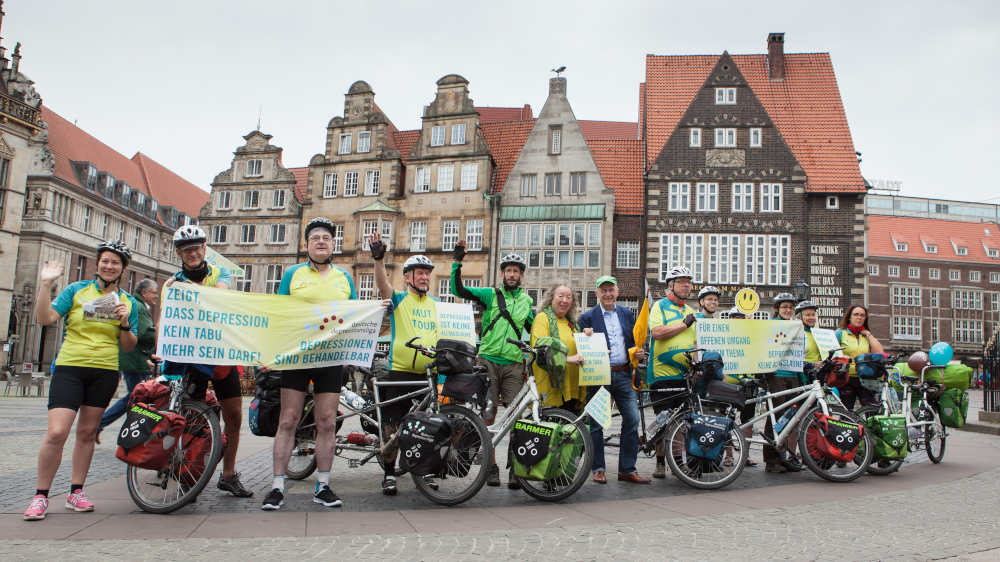
[[[174, 232], [174, 252], [181, 260], [181, 270], [165, 283], [166, 286], [186, 282], [217, 289], [229, 288], [229, 270], [205, 261], [207, 239], [205, 231], [194, 224], [184, 225]], [[236, 472], [236, 453], [240, 447], [240, 426], [243, 424], [243, 392], [240, 388], [239, 373], [235, 367], [229, 366], [215, 367], [171, 362], [165, 362], [163, 365], [164, 373], [182, 374], [185, 369], [194, 369], [202, 374], [202, 377], [196, 377], [198, 380], [191, 395], [204, 396], [208, 388], [208, 379], [211, 379], [212, 390], [215, 391], [215, 397], [219, 399], [219, 405], [222, 407], [226, 449], [222, 454], [222, 474], [219, 475], [216, 487], [238, 498], [253, 496], [253, 492], [247, 490], [240, 482], [240, 475]]]

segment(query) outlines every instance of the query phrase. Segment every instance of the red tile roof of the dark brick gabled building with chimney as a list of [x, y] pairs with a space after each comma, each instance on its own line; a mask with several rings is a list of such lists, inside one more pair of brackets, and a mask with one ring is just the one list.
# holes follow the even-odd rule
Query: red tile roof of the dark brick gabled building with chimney
[[[786, 53], [785, 79], [767, 77], [767, 56], [733, 55], [818, 192], [863, 192], [864, 180], [829, 53]], [[677, 128], [718, 55], [646, 56], [647, 153], [652, 162]]]

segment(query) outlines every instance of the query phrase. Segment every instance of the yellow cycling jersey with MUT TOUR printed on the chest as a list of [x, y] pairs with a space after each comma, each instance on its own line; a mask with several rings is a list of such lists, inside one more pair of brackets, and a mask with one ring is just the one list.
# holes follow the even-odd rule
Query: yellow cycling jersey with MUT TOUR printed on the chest
[[406, 342], [413, 337], [420, 337], [416, 342], [420, 345], [437, 345], [437, 299], [430, 295], [420, 297], [410, 291], [393, 292], [389, 327], [392, 334], [389, 368], [393, 371], [423, 373], [427, 364], [433, 360], [406, 347]]

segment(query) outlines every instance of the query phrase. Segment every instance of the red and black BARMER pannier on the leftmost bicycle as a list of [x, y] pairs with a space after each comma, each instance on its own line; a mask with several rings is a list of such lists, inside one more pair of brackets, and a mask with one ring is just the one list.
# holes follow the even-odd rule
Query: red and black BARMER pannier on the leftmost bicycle
[[133, 404], [118, 432], [115, 456], [132, 466], [159, 470], [170, 462], [185, 425], [180, 414], [160, 411], [141, 402]]

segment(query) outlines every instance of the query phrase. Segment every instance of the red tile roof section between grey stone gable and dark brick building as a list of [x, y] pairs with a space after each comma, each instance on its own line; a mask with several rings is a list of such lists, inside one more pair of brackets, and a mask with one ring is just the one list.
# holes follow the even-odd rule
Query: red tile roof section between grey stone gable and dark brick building
[[587, 144], [604, 185], [615, 191], [615, 213], [641, 215], [642, 141], [606, 139]]

